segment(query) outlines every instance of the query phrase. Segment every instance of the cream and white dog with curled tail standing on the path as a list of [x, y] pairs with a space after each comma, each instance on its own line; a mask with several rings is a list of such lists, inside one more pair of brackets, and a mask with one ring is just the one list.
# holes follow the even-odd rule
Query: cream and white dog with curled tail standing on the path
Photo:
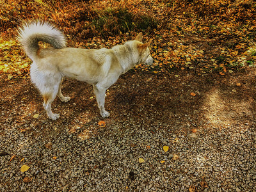
[[[66, 47], [63, 33], [48, 22], [27, 22], [18, 29], [19, 41], [33, 63], [30, 68], [31, 81], [44, 98], [44, 109], [52, 120], [60, 117], [52, 113], [52, 101], [58, 97], [68, 102], [70, 97], [61, 93], [64, 76], [92, 84], [96, 95], [100, 115], [108, 118], [104, 108], [105, 93], [121, 74], [139, 63], [152, 65], [148, 46], [143, 44], [142, 33], [134, 40], [111, 49], [79, 49]], [[45, 42], [52, 47], [42, 49], [38, 42]]]

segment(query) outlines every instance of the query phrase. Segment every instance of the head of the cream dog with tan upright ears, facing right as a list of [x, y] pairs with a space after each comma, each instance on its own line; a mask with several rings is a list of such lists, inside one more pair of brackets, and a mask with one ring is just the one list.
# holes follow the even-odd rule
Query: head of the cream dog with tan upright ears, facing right
[[137, 48], [138, 52], [140, 54], [141, 63], [146, 63], [147, 65], [152, 65], [153, 58], [150, 56], [150, 51], [148, 49], [148, 46], [150, 45], [151, 41], [147, 44], [143, 44], [142, 41], [142, 33], [139, 33], [139, 35], [136, 36], [135, 40], [138, 41]]

